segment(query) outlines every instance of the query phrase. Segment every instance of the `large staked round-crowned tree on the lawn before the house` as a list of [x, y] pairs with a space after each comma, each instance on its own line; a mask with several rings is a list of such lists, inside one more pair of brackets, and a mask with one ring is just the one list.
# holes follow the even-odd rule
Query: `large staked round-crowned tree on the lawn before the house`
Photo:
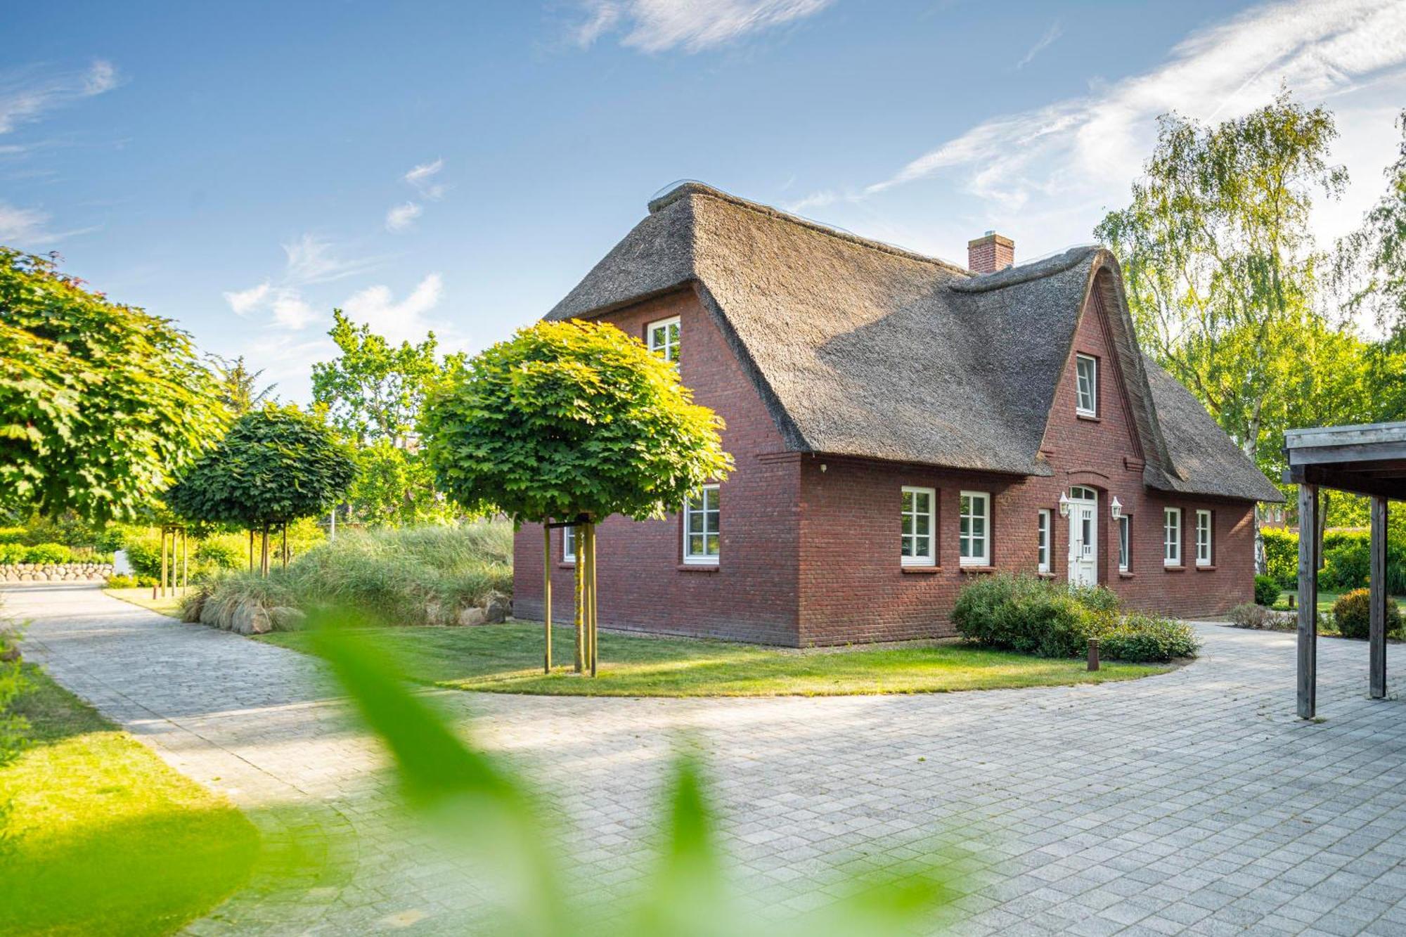
[[465, 509], [576, 526], [576, 670], [595, 667], [596, 522], [662, 518], [733, 468], [721, 418], [675, 366], [602, 322], [519, 329], [430, 394], [422, 429], [439, 488]]

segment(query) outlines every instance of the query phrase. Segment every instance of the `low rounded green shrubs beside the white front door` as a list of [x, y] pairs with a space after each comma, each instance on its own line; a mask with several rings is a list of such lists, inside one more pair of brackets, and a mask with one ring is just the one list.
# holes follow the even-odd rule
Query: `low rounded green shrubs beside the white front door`
[[1125, 661], [1194, 657], [1199, 646], [1189, 625], [1122, 615], [1111, 589], [1071, 588], [1031, 575], [1000, 574], [963, 587], [952, 622], [970, 642], [1040, 657], [1081, 657], [1092, 639], [1104, 657]]

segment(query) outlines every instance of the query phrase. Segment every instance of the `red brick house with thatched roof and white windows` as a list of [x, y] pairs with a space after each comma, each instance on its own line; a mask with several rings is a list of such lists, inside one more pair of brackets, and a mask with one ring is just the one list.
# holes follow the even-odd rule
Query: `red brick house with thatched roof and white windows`
[[[952, 633], [993, 570], [1129, 606], [1250, 601], [1274, 485], [1133, 338], [1101, 248], [970, 266], [697, 183], [671, 190], [547, 318], [605, 319], [678, 362], [737, 470], [665, 521], [599, 529], [607, 627], [810, 646]], [[553, 533], [554, 615], [571, 615]], [[541, 529], [515, 612], [541, 616]]]

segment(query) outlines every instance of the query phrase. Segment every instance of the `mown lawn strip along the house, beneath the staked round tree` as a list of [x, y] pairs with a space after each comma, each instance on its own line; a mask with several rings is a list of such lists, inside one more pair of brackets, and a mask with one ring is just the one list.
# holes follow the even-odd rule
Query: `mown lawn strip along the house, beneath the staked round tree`
[[[600, 633], [595, 680], [568, 667], [541, 673], [540, 625], [377, 627], [385, 654], [412, 680], [456, 689], [578, 696], [780, 696], [917, 694], [1133, 680], [1168, 667], [1047, 660], [963, 644], [778, 650], [683, 637]], [[257, 640], [307, 651], [307, 632]], [[554, 629], [554, 663], [571, 663], [571, 630]]]

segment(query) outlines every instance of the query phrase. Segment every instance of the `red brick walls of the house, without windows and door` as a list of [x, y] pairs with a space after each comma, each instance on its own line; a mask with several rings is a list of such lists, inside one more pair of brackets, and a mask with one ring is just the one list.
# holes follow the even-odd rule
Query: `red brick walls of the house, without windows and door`
[[[957, 589], [983, 571], [1036, 571], [1036, 516], [1052, 519], [1049, 575], [1069, 575], [1069, 522], [1059, 498], [1071, 485], [1098, 492], [1098, 581], [1128, 606], [1180, 616], [1216, 615], [1253, 597], [1254, 505], [1197, 499], [1143, 485], [1143, 453], [1097, 304], [1074, 352], [1098, 362], [1097, 418], [1076, 414], [1074, 356], [1045, 431], [1050, 477], [995, 476], [786, 452], [780, 433], [711, 315], [683, 290], [603, 318], [644, 338], [648, 322], [681, 317], [681, 376], [697, 402], [725, 421], [737, 460], [721, 485], [721, 559], [682, 563], [682, 522], [599, 526], [600, 622], [606, 627], [811, 646], [952, 633]], [[1019, 376], [1012, 376], [1019, 380]], [[900, 564], [901, 488], [936, 490], [936, 566]], [[962, 491], [991, 495], [991, 567], [959, 563]], [[1112, 498], [1130, 518], [1130, 568], [1119, 571]], [[1181, 508], [1182, 563], [1163, 563], [1163, 508]], [[1195, 512], [1212, 512], [1212, 564], [1195, 564]], [[571, 616], [571, 575], [553, 532], [553, 615]], [[515, 546], [515, 613], [541, 618], [543, 535], [524, 526]]]

